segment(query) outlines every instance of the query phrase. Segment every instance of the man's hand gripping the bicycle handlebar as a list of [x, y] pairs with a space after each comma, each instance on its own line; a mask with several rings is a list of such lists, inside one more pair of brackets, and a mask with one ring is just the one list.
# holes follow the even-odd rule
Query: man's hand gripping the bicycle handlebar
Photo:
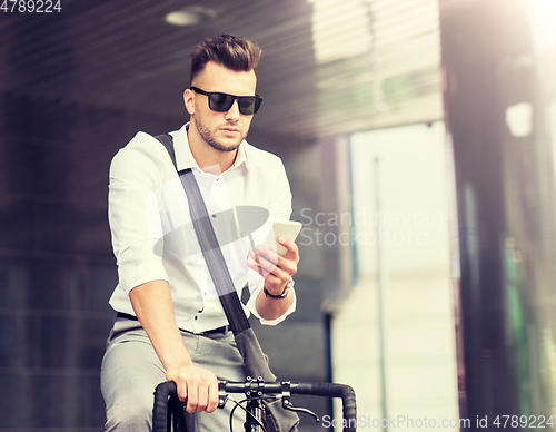
[[176, 382], [178, 397], [187, 401], [187, 412], [214, 412], [218, 408], [218, 380], [212, 372], [190, 363], [168, 370], [166, 380]]

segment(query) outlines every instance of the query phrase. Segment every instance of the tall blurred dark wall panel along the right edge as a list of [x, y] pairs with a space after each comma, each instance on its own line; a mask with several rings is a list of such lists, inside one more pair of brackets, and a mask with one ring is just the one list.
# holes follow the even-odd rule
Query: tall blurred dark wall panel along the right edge
[[509, 415], [528, 430], [554, 414], [556, 130], [546, 120], [556, 39], [536, 52], [532, 3], [440, 3], [461, 266], [460, 418], [473, 429], [494, 429], [497, 416], [504, 426]]

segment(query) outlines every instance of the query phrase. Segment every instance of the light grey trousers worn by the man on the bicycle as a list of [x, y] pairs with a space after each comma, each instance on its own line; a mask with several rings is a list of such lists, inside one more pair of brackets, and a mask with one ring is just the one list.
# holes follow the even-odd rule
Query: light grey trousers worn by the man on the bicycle
[[[234, 334], [195, 335], [181, 332], [193, 363], [220, 380], [245, 381], [244, 361]], [[117, 318], [102, 360], [101, 390], [106, 403], [107, 432], [152, 430], [153, 392], [165, 382], [166, 371], [139, 322]], [[185, 413], [188, 432], [229, 430], [232, 402], [214, 413]], [[242, 431], [242, 410], [234, 414], [234, 431]]]

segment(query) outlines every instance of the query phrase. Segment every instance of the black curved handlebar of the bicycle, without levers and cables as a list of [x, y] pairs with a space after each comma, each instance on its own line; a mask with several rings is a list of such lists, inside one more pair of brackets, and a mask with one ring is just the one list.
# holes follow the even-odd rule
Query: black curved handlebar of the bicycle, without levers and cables
[[[344, 412], [344, 431], [355, 432], [357, 425], [357, 405], [354, 389], [336, 383], [299, 383], [299, 382], [227, 382], [220, 381], [219, 386], [228, 393], [284, 394], [285, 389], [290, 394], [341, 399]], [[173, 381], [161, 383], [155, 391], [155, 408], [152, 411], [152, 432], [166, 432], [168, 428], [168, 397], [177, 396], [177, 385]]]

